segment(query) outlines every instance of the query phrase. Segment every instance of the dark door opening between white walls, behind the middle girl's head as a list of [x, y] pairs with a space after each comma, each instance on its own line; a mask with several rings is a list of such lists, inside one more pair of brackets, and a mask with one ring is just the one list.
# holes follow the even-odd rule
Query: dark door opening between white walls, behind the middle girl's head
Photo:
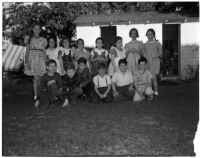
[[116, 26], [101, 27], [101, 38], [104, 40], [105, 49], [109, 50], [116, 37]]

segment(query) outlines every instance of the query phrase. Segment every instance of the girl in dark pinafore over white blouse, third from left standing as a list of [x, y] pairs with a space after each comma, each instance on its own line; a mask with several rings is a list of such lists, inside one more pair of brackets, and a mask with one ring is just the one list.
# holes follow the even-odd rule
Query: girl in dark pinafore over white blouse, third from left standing
[[64, 37], [61, 40], [61, 48], [59, 48], [58, 58], [61, 63], [61, 75], [65, 74], [67, 67], [74, 63], [73, 55], [74, 49], [70, 49], [70, 41], [68, 38]]

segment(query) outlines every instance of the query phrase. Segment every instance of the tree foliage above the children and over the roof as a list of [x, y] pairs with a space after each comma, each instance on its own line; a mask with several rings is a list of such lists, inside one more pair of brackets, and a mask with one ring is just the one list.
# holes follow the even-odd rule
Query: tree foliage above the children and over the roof
[[71, 38], [75, 35], [75, 25], [72, 22], [84, 14], [178, 10], [198, 15], [198, 8], [198, 2], [16, 2], [3, 8], [3, 30], [11, 28], [12, 36], [21, 38], [30, 32], [34, 22], [38, 22], [44, 29], [50, 28], [53, 34]]

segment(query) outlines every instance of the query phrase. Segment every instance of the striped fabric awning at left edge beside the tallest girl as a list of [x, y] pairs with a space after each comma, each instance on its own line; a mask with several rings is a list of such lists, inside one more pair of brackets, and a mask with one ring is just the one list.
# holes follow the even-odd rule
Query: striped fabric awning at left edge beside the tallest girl
[[24, 62], [26, 47], [6, 44], [3, 45], [3, 71], [18, 71]]

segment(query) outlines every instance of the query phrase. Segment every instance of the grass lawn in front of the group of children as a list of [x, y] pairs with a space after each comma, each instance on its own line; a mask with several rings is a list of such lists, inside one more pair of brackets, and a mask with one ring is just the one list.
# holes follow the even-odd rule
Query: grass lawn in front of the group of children
[[3, 156], [194, 156], [198, 81], [160, 85], [141, 103], [34, 109], [32, 96], [3, 97]]

